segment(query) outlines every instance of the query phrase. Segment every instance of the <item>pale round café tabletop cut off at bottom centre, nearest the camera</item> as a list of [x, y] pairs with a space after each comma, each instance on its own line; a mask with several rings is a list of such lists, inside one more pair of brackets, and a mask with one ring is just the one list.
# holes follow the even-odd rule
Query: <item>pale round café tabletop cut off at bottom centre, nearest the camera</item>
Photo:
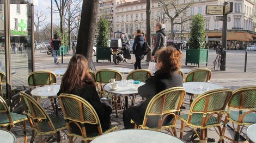
[[122, 142], [122, 143], [148, 143], [148, 142], [185, 142], [173, 135], [151, 131], [146, 129], [122, 129], [120, 131], [113, 131], [107, 134], [100, 135], [92, 143], [101, 142]]

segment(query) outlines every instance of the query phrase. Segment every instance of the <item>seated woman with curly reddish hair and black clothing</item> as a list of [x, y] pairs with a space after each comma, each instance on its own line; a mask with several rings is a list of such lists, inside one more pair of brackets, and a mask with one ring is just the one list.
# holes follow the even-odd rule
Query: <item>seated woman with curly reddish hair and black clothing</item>
[[[134, 124], [131, 124], [131, 119], [136, 124], [141, 125], [145, 110], [149, 104], [149, 101], [162, 90], [172, 87], [182, 87], [182, 76], [176, 71], [181, 67], [182, 53], [173, 47], [161, 48], [157, 50], [157, 71], [154, 76], [151, 76], [145, 83], [145, 85], [138, 88], [138, 94], [142, 98], [146, 98], [145, 102], [141, 105], [127, 108], [123, 114], [125, 128], [134, 128]], [[149, 119], [150, 120], [150, 119]], [[154, 119], [148, 120], [147, 126], [154, 126]], [[166, 119], [166, 122], [172, 120], [172, 116]]]

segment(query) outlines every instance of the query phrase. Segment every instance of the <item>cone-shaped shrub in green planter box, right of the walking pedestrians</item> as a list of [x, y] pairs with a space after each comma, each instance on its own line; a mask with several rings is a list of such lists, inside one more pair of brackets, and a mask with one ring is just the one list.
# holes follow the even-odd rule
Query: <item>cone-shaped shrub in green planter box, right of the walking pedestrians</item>
[[190, 23], [190, 35], [189, 35], [189, 49], [186, 50], [186, 62], [191, 64], [201, 63], [208, 65], [208, 49], [205, 48], [205, 20], [203, 15], [197, 14], [192, 17]]

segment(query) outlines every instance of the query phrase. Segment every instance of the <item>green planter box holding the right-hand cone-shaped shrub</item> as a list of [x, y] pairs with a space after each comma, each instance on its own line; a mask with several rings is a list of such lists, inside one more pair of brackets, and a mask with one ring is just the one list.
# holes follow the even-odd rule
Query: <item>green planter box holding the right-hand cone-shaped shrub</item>
[[200, 64], [205, 64], [208, 66], [208, 53], [209, 49], [187, 49], [186, 50], [186, 62], [191, 64], [197, 64], [198, 67]]

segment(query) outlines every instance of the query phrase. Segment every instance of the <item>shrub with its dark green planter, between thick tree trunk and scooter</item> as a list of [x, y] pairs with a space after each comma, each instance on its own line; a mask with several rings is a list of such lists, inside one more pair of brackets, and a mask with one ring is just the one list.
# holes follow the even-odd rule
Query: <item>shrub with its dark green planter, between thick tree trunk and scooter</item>
[[98, 36], [96, 39], [96, 62], [99, 60], [111, 61], [111, 50], [108, 45], [109, 24], [107, 19], [100, 19], [97, 23]]

